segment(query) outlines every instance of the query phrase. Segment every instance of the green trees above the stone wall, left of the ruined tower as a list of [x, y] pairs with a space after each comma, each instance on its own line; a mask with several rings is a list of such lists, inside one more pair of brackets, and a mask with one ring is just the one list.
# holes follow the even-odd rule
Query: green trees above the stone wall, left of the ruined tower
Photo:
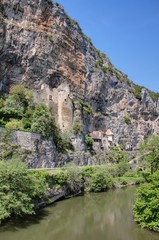
[[56, 125], [54, 114], [44, 104], [33, 101], [32, 91], [23, 85], [14, 85], [9, 94], [0, 97], [0, 126], [6, 129], [40, 133], [44, 139], [53, 137], [59, 152], [73, 149]]

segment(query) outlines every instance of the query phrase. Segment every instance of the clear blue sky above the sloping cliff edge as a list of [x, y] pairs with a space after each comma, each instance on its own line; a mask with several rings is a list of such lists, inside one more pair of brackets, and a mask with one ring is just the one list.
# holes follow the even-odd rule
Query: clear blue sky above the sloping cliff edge
[[129, 79], [159, 92], [159, 0], [56, 0]]

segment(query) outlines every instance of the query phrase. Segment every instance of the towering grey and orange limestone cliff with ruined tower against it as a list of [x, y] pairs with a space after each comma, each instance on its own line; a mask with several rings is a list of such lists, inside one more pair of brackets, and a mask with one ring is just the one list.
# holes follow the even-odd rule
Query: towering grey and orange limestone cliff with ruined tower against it
[[54, 109], [63, 131], [83, 126], [78, 150], [93, 130], [109, 128], [115, 144], [133, 149], [159, 134], [159, 100], [144, 88], [136, 98], [135, 85], [50, 0], [0, 1], [0, 90], [19, 83]]

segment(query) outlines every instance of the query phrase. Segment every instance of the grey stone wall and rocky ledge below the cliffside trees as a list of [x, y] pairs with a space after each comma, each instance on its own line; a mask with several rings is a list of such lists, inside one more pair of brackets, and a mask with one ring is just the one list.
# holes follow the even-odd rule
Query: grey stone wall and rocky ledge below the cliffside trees
[[6, 138], [10, 143], [23, 149], [25, 155], [23, 161], [28, 163], [29, 168], [62, 167], [69, 162], [80, 166], [97, 164], [97, 160], [88, 152], [58, 154], [53, 140], [42, 140], [41, 135], [37, 133], [15, 130], [6, 132], [4, 128], [0, 128], [0, 142]]

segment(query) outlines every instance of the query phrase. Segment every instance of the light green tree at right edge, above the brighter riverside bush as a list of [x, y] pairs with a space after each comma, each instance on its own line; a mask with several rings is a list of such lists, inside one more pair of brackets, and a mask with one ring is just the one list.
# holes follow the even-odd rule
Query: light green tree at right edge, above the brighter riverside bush
[[142, 158], [148, 163], [151, 173], [159, 169], [159, 136], [150, 135], [139, 145]]

